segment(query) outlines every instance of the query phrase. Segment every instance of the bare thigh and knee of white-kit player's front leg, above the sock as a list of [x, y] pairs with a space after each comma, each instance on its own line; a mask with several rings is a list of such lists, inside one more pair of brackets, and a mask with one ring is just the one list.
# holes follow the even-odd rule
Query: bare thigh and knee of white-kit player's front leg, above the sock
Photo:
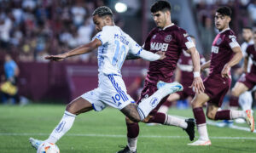
[[92, 105], [86, 99], [81, 97], [74, 99], [67, 105], [66, 111], [79, 115], [81, 113], [93, 110]]

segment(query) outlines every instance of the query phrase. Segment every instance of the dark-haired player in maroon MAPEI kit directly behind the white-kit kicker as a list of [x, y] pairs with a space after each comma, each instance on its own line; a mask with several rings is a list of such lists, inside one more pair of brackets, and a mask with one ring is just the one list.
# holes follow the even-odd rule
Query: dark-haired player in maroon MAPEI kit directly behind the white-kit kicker
[[[204, 90], [204, 86], [200, 76], [201, 66], [199, 54], [188, 33], [172, 23], [170, 3], [166, 1], [158, 1], [152, 5], [150, 10], [157, 27], [148, 34], [144, 44], [144, 49], [148, 49], [153, 53], [159, 51], [165, 52], [166, 59], [163, 59], [161, 62], [150, 62], [141, 99], [137, 101], [137, 104], [139, 104], [142, 99], [147, 99], [148, 96], [154, 94], [157, 88], [159, 88], [157, 87], [157, 82], [171, 82], [173, 71], [176, 69], [177, 60], [183, 50], [191, 54], [193, 61], [194, 81], [191, 86], [195, 88], [196, 93], [202, 92]], [[189, 139], [193, 140], [195, 137], [194, 119], [183, 120], [157, 112], [160, 105], [166, 101], [166, 98], [162, 99], [160, 104], [149, 113], [144, 122], [156, 122], [169, 126], [173, 125], [182, 127], [189, 134]], [[128, 131], [128, 144], [124, 150], [119, 150], [118, 153], [137, 152], [139, 126], [136, 122], [131, 122], [127, 117], [126, 126]]]

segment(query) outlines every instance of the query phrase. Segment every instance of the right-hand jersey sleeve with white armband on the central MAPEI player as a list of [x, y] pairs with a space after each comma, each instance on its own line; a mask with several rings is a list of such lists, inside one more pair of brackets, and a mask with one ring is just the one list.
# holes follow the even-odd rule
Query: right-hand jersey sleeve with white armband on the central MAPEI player
[[191, 37], [189, 37], [189, 34], [183, 29], [177, 32], [177, 41], [183, 50], [195, 47]]

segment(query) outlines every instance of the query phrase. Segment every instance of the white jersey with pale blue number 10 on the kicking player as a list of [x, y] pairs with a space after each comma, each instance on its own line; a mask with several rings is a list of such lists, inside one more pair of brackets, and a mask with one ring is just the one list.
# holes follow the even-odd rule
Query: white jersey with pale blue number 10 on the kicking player
[[121, 67], [125, 61], [126, 55], [140, 54], [143, 50], [137, 42], [122, 31], [118, 26], [104, 26], [102, 31], [93, 37], [102, 42], [98, 48], [98, 66], [99, 73], [105, 75], [121, 75]]

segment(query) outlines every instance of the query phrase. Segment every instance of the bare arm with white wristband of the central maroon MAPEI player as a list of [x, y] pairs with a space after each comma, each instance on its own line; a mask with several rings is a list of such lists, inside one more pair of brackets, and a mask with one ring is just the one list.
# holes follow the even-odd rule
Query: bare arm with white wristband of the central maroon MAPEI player
[[195, 47], [189, 48], [187, 52], [191, 54], [192, 63], [194, 67], [194, 81], [190, 87], [194, 88], [195, 93], [199, 94], [201, 92], [204, 92], [205, 90], [205, 86], [201, 80], [201, 75], [200, 75], [200, 71], [201, 71], [200, 55]]

